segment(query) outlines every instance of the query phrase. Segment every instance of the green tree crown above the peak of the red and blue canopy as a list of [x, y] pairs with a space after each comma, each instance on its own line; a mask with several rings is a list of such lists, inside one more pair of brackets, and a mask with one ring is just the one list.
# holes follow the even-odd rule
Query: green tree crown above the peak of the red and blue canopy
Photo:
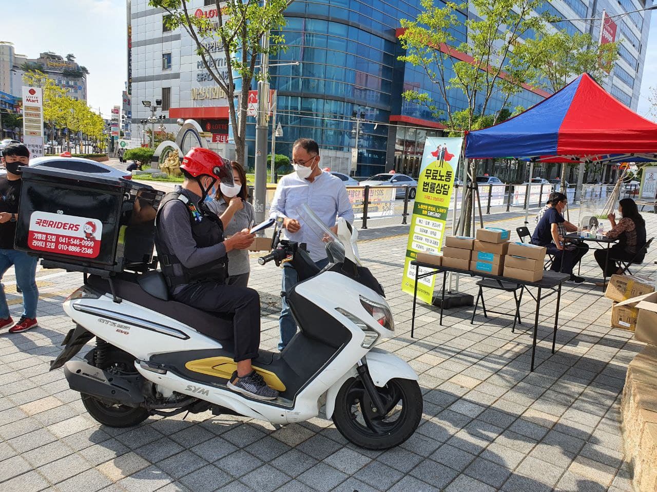
[[598, 45], [589, 33], [558, 31], [527, 39], [516, 52], [534, 57], [533, 84], [556, 92], [581, 73], [589, 73], [597, 81], [605, 79], [618, 59], [618, 42]]

